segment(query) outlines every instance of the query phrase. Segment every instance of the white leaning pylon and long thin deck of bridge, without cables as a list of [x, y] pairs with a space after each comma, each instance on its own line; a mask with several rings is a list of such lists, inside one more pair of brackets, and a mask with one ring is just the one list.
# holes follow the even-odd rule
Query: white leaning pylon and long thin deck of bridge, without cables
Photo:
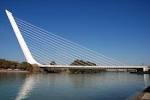
[[147, 66], [69, 66], [69, 65], [43, 65], [43, 64], [40, 64], [33, 58], [32, 54], [21, 34], [21, 31], [19, 30], [19, 28], [15, 22], [15, 19], [12, 16], [12, 13], [9, 12], [8, 10], [6, 10], [6, 14], [7, 14], [8, 19], [11, 23], [11, 26], [15, 32], [15, 35], [20, 44], [20, 47], [25, 55], [25, 58], [26, 58], [27, 62], [30, 64], [37, 64], [40, 67], [58, 67], [58, 68], [69, 68], [69, 67], [70, 68], [143, 68], [144, 71], [148, 71]]

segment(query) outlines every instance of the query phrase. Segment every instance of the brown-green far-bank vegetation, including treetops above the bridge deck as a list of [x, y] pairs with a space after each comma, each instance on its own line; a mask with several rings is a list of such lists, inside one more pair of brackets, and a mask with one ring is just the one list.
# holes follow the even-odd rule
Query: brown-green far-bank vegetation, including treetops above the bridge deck
[[[57, 65], [55, 61], [51, 61], [50, 65]], [[95, 63], [76, 59], [70, 66], [96, 66]], [[5, 59], [0, 59], [0, 72], [29, 72], [29, 73], [69, 73], [69, 74], [86, 74], [86, 73], [100, 73], [102, 71], [115, 72], [132, 72], [139, 73], [143, 69], [73, 69], [73, 68], [40, 68], [38, 65], [31, 65], [27, 62], [17, 62]]]

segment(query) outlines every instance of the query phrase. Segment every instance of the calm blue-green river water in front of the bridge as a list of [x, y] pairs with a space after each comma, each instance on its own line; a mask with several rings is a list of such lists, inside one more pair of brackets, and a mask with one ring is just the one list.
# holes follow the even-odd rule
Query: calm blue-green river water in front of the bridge
[[148, 74], [0, 73], [0, 100], [126, 100], [150, 83]]

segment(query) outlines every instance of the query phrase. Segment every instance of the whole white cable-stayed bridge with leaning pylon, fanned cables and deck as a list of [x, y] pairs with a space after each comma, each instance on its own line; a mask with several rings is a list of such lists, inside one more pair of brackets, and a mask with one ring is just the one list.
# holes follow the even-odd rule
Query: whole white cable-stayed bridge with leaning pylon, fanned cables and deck
[[[113, 58], [48, 32], [42, 28], [21, 20], [6, 10], [6, 14], [15, 32], [25, 58], [30, 64], [40, 67], [57, 68], [143, 68], [148, 66], [129, 66]], [[75, 60], [94, 63], [96, 66], [70, 65]], [[55, 61], [56, 65], [50, 65]], [[81, 65], [83, 62], [79, 62]]]

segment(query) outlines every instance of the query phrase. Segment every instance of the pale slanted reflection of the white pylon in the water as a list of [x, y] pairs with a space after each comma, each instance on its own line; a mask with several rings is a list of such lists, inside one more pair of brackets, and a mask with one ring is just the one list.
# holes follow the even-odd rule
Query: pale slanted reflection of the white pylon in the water
[[35, 85], [35, 79], [33, 75], [27, 76], [15, 100], [22, 100], [27, 98], [29, 93], [31, 93], [34, 85]]

